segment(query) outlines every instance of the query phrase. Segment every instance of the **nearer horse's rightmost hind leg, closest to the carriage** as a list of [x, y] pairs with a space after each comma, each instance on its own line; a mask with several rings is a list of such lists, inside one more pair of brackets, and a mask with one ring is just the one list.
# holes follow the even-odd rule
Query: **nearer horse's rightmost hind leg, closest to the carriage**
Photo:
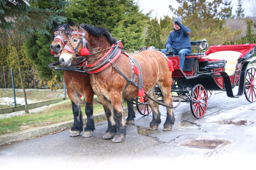
[[[161, 92], [163, 94], [164, 104], [166, 104], [168, 106], [173, 106], [173, 99], [172, 99], [172, 96], [171, 96], [170, 84], [167, 83], [167, 86], [165, 86], [163, 83], [161, 83], [161, 84], [160, 84], [160, 89], [161, 89]], [[166, 107], [166, 110], [167, 110], [166, 121], [163, 124], [163, 131], [171, 130], [172, 126], [174, 125], [174, 121], [175, 121], [174, 114], [173, 114], [173, 109]]]

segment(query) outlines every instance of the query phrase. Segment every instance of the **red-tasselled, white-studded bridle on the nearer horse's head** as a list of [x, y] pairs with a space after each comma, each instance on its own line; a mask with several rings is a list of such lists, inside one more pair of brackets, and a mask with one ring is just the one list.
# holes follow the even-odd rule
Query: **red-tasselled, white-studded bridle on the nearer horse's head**
[[[82, 29], [83, 29], [83, 28], [82, 28]], [[71, 40], [71, 38], [72, 38], [73, 35], [77, 35], [77, 34], [78, 34], [78, 35], [82, 35], [82, 36], [81, 36], [81, 39], [80, 39], [79, 43], [77, 44], [77, 47], [75, 48], [75, 47], [71, 44], [70, 40]], [[81, 53], [80, 53], [77, 49], [79, 48], [81, 42], [82, 42], [82, 48], [84, 48], [84, 47], [88, 48], [88, 42], [87, 42], [86, 39], [85, 39], [85, 30], [83, 29], [83, 32], [72, 31], [72, 33], [71, 33], [71, 35], [70, 35], [68, 41], [69, 41], [70, 46], [73, 48], [73, 50], [72, 50], [71, 48], [69, 48], [69, 46], [68, 46], [67, 44], [64, 46], [63, 50], [67, 50], [67, 51], [69, 51], [69, 52], [71, 52], [71, 53], [73, 54], [73, 57], [71, 57], [70, 60], [72, 61], [72, 60], [74, 60], [74, 59], [81, 59], [81, 58], [84, 58], [84, 57], [81, 56]], [[77, 54], [77, 53], [78, 53], [78, 54]], [[74, 57], [74, 56], [76, 56], [76, 57]]]

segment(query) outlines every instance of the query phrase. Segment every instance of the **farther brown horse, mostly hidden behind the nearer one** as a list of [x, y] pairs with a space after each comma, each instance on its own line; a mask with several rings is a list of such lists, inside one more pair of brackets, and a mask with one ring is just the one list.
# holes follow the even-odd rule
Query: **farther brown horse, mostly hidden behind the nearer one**
[[[54, 41], [52, 42], [50, 48], [52, 53], [55, 54], [55, 58], [59, 58], [63, 46], [66, 45], [72, 31], [73, 22], [70, 20], [68, 24], [58, 25], [53, 22], [54, 25]], [[82, 131], [82, 112], [80, 109], [80, 95], [85, 97], [85, 114], [87, 116], [87, 124], [85, 127], [85, 132], [82, 137], [90, 137], [92, 132], [95, 130], [93, 121], [93, 96], [94, 92], [90, 84], [90, 76], [77, 73], [77, 72], [64, 72], [64, 80], [67, 87], [67, 93], [72, 103], [72, 111], [74, 115], [74, 126], [71, 128], [70, 137], [78, 136]], [[133, 105], [128, 103], [128, 118], [127, 124], [132, 124], [134, 122], [135, 113], [133, 111]]]

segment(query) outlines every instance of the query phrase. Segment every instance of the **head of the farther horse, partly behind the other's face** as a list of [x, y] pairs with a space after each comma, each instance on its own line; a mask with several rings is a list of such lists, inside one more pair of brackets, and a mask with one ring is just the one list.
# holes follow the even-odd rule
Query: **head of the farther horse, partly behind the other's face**
[[66, 45], [72, 31], [74, 30], [72, 20], [69, 20], [67, 24], [58, 25], [55, 21], [53, 21], [53, 26], [55, 28], [53, 33], [53, 42], [50, 46], [52, 53], [55, 58], [59, 58], [63, 47]]

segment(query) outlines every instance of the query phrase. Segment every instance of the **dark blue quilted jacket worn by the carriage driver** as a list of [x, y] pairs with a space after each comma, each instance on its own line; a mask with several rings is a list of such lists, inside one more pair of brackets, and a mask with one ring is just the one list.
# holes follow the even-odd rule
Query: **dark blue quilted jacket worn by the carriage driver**
[[179, 27], [179, 30], [173, 29], [169, 33], [166, 41], [166, 49], [171, 47], [172, 49], [179, 51], [183, 48], [191, 48], [189, 37], [191, 30], [189, 27], [185, 27], [183, 24], [180, 24]]

